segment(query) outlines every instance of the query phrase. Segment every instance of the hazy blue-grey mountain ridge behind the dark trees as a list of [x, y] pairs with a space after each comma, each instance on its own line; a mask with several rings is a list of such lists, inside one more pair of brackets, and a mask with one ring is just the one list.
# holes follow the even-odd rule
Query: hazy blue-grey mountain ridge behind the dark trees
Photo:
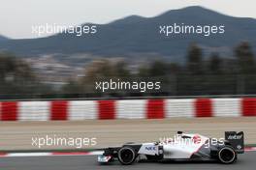
[[[225, 35], [212, 37], [176, 35], [167, 38], [159, 34], [159, 25], [173, 23], [224, 24], [227, 30]], [[199, 6], [171, 10], [153, 17], [131, 15], [108, 24], [90, 23], [90, 25], [97, 25], [97, 34], [84, 37], [56, 34], [48, 38], [11, 40], [0, 42], [0, 50], [7, 49], [22, 56], [53, 53], [72, 56], [86, 53], [103, 57], [130, 57], [156, 54], [176, 61], [183, 60], [191, 42], [203, 46], [206, 53], [212, 52], [212, 49], [218, 51], [218, 48], [223, 51], [224, 48], [221, 54], [231, 55], [234, 46], [243, 41], [250, 42], [253, 50], [256, 51], [256, 38], [252, 36], [255, 34], [256, 19], [220, 14]]]

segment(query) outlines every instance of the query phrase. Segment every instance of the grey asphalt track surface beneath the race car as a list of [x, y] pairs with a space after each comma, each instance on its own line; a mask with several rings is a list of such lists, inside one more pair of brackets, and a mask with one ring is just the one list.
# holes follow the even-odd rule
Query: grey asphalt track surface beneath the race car
[[256, 167], [256, 152], [239, 156], [231, 165], [214, 162], [138, 162], [123, 166], [118, 162], [111, 165], [99, 165], [97, 156], [34, 156], [2, 157], [2, 170], [253, 170]]

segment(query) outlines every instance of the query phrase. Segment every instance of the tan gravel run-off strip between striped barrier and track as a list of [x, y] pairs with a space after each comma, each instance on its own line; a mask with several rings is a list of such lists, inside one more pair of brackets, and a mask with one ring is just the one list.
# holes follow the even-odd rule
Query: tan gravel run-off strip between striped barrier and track
[[[256, 117], [172, 118], [153, 120], [87, 120], [51, 122], [0, 122], [0, 153], [33, 151], [32, 138], [48, 136], [96, 138], [97, 145], [82, 149], [100, 149], [127, 142], [153, 142], [173, 137], [176, 131], [224, 137], [224, 131], [244, 131], [245, 144], [256, 144]], [[46, 150], [77, 150], [68, 146], [45, 146]]]

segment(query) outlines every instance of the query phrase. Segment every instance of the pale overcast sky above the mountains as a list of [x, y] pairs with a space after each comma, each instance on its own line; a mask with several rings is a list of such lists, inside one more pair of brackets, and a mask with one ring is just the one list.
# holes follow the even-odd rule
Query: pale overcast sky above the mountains
[[195, 5], [256, 18], [253, 0], [0, 0], [0, 35], [34, 38], [32, 25], [107, 23], [131, 14], [153, 16]]

